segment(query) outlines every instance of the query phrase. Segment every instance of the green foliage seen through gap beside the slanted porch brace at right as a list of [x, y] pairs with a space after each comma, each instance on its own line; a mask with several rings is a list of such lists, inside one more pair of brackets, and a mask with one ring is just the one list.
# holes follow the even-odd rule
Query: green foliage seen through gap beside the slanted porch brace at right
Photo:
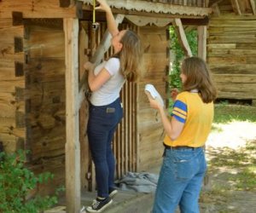
[[[179, 75], [180, 75], [180, 64], [184, 58], [184, 53], [183, 53], [183, 49], [181, 48], [178, 42], [177, 35], [173, 26], [169, 28], [169, 32], [171, 37], [171, 49], [175, 57], [171, 67], [170, 84], [171, 84], [171, 88], [181, 89], [182, 84], [181, 84], [181, 79], [179, 78]], [[186, 37], [188, 39], [192, 54], [197, 55], [197, 32], [196, 31], [187, 32]]]

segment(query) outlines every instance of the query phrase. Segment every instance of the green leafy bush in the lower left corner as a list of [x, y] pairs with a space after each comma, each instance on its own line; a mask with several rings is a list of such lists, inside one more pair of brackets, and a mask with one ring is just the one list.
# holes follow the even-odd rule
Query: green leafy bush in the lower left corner
[[53, 179], [53, 175], [45, 172], [36, 176], [26, 169], [25, 154], [22, 150], [12, 154], [0, 153], [0, 212], [37, 213], [57, 203], [58, 191], [52, 197], [37, 195], [26, 199], [32, 189]]

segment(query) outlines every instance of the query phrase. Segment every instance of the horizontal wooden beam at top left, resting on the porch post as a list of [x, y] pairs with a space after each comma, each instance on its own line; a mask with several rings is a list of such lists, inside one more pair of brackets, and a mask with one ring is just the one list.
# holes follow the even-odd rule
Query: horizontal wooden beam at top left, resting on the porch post
[[60, 0], [2, 0], [0, 2], [0, 19], [12, 18], [12, 12], [19, 11], [24, 19], [32, 18], [75, 18], [75, 6], [61, 8]]

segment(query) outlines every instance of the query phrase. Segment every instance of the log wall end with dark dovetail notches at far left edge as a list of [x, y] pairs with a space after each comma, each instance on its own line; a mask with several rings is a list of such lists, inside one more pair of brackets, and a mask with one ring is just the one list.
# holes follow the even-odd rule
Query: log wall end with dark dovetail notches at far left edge
[[12, 153], [24, 148], [25, 72], [24, 26], [13, 19], [0, 19], [0, 141]]

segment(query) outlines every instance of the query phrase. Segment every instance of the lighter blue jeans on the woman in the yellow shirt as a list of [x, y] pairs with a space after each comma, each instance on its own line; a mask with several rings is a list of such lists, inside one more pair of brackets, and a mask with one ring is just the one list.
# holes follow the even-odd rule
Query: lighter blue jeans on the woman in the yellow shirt
[[203, 148], [166, 149], [153, 213], [198, 213], [201, 183], [207, 170]]

